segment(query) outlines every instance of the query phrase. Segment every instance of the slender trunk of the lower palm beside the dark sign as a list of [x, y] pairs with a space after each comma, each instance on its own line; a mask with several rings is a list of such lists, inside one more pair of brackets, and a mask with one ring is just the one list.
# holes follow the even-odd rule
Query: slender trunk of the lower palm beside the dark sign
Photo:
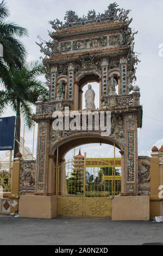
[[[16, 125], [15, 125], [15, 138], [20, 142], [20, 129], [21, 129], [21, 118], [20, 118], [20, 101], [17, 101], [17, 110], [16, 110]], [[14, 158], [19, 152], [20, 145], [15, 140], [14, 144]]]

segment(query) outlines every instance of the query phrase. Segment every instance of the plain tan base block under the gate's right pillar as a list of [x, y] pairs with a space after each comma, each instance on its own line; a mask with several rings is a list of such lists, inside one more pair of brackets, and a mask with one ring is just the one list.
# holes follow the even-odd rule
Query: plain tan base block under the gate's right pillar
[[115, 197], [112, 221], [149, 221], [149, 196]]

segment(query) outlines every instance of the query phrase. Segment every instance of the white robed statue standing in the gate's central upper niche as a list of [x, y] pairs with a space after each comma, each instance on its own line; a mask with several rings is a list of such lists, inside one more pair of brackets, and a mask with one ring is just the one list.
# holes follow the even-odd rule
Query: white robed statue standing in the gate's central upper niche
[[88, 89], [85, 92], [85, 107], [86, 109], [95, 110], [95, 92], [93, 91], [91, 84], [89, 84]]

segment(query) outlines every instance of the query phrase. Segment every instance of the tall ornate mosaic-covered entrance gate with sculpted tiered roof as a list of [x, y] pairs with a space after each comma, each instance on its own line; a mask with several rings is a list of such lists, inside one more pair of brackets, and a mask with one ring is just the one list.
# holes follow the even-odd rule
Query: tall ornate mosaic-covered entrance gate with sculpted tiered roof
[[[68, 214], [68, 210], [65, 209], [69, 208], [64, 208], [66, 205], [70, 205], [70, 208], [78, 205], [80, 210], [76, 210], [76, 214], [78, 212], [78, 215], [82, 215], [83, 209], [83, 215], [90, 216], [90, 209], [94, 209], [91, 205], [96, 205], [99, 209], [100, 202], [103, 202], [102, 205], [109, 205], [111, 202], [112, 188], [110, 196], [96, 197], [101, 192], [110, 193], [112, 182], [107, 178], [103, 178], [99, 186], [96, 182], [94, 184], [91, 182], [92, 185], [87, 186], [85, 178], [83, 188], [78, 183], [78, 195], [76, 194], [75, 197], [71, 195], [71, 198], [65, 196], [68, 199], [62, 198], [67, 189], [66, 174], [60, 172], [65, 154], [83, 144], [115, 144], [122, 157], [121, 193], [123, 196], [138, 195], [137, 128], [142, 126], [142, 106], [140, 89], [134, 84], [136, 65], [139, 63], [134, 52], [134, 35], [137, 32], [129, 27], [132, 19], [129, 20], [128, 13], [128, 10], [118, 8], [116, 3], [110, 4], [103, 14], [89, 11], [86, 17], [78, 17], [74, 11], [67, 11], [65, 23], [58, 19], [49, 22], [54, 29], [49, 32], [51, 40], [46, 42], [39, 38], [41, 42], [37, 43], [41, 47], [41, 52], [45, 54], [43, 65], [49, 87], [49, 99], [45, 100], [39, 96], [36, 102], [36, 114], [33, 115], [33, 120], [38, 123], [35, 197], [39, 200], [40, 197], [37, 196], [43, 196], [44, 199], [45, 196], [49, 196], [54, 201], [58, 200], [59, 205], [67, 200], [67, 203], [62, 203], [65, 206], [58, 208], [58, 211], [61, 210], [58, 214]], [[89, 86], [88, 92], [85, 93], [85, 102], [89, 97], [91, 100], [86, 103], [86, 109], [83, 109], [82, 88], [90, 82], [99, 83], [99, 108], [96, 108], [95, 102], [92, 102], [93, 99], [95, 100], [95, 92], [93, 93]], [[67, 114], [65, 108], [69, 109], [70, 114]], [[58, 121], [58, 111], [62, 116], [63, 124], [62, 129], [59, 130], [53, 127]], [[74, 111], [79, 115], [76, 122], [73, 120]], [[89, 116], [86, 116], [87, 112]], [[111, 114], [109, 119], [111, 132], [104, 135], [103, 127], [106, 127], [108, 112]], [[91, 129], [90, 113], [93, 115]], [[99, 124], [101, 113], [104, 113], [105, 119], [102, 126]], [[84, 129], [83, 120], [85, 120]], [[76, 174], [76, 178], [79, 180], [79, 175]], [[97, 181], [98, 178], [99, 176], [96, 175]], [[63, 180], [65, 186], [61, 185]], [[68, 184], [71, 185], [68, 186], [68, 190], [77, 193], [72, 180], [70, 178], [68, 180]], [[104, 191], [99, 191], [101, 187]], [[80, 193], [83, 193], [83, 197]], [[48, 197], [45, 200], [48, 200]], [[74, 200], [83, 203], [75, 203]], [[108, 203], [106, 204], [105, 201]], [[89, 205], [89, 208], [85, 208], [85, 205]], [[56, 208], [53, 202], [53, 211], [50, 210], [53, 216], [54, 209]], [[89, 209], [89, 212], [86, 209]], [[109, 216], [109, 206], [106, 209], [105, 216]], [[103, 215], [102, 211], [98, 213], [99, 216]], [[97, 211], [94, 214], [98, 216]]]

